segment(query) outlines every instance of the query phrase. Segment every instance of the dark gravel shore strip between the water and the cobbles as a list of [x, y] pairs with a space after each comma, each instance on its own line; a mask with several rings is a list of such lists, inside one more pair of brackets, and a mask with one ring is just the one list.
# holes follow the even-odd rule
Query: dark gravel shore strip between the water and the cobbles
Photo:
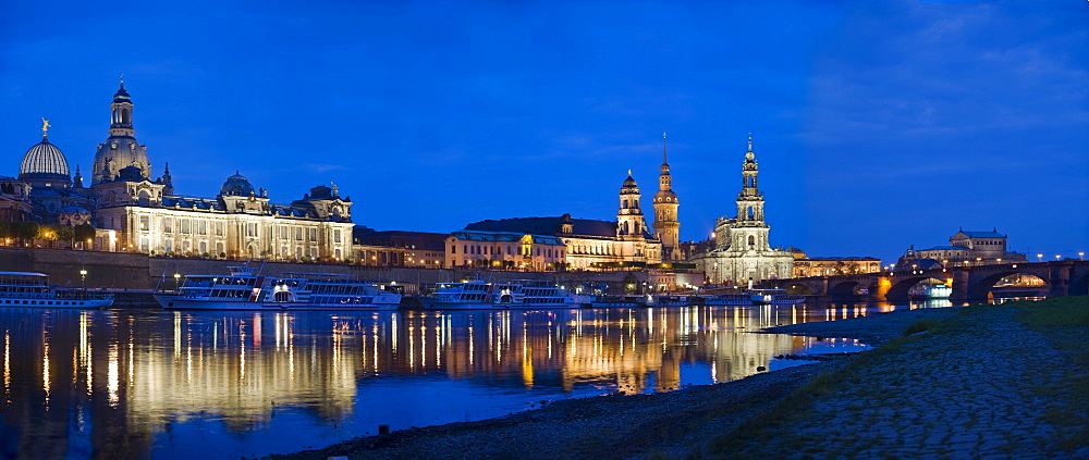
[[[900, 336], [913, 322], [954, 313], [954, 309], [909, 310], [766, 332], [879, 343]], [[811, 363], [671, 393], [563, 400], [498, 419], [399, 431], [273, 458], [683, 457], [707, 451], [713, 439], [846, 361]]]

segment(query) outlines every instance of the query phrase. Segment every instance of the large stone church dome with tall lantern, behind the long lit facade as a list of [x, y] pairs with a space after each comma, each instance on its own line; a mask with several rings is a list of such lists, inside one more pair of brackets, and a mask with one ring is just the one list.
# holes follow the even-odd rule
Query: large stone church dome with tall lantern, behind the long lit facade
[[147, 159], [147, 147], [139, 145], [134, 137], [136, 129], [133, 128], [133, 101], [129, 91], [125, 91], [123, 79], [121, 88], [113, 95], [110, 111], [110, 137], [98, 145], [90, 171], [90, 185], [113, 181], [121, 170], [133, 166], [139, 170], [140, 177], [149, 178], [151, 163]]

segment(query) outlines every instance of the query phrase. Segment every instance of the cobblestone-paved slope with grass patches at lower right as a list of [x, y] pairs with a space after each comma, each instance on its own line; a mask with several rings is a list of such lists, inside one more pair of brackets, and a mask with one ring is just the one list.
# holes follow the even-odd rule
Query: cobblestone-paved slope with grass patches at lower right
[[[888, 339], [873, 350], [860, 353], [847, 365], [818, 376], [771, 410], [715, 439], [709, 453], [731, 457], [766, 453], [865, 456], [866, 452], [880, 451], [873, 448], [882, 444], [918, 444], [920, 450], [915, 450], [915, 453], [1014, 455], [1032, 449], [1039, 452], [1039, 446], [1024, 445], [1024, 440], [1040, 432], [1049, 434], [1045, 455], [1077, 456], [1074, 452], [1089, 446], [1089, 398], [1085, 397], [1089, 394], [1087, 332], [1089, 297], [974, 306], [960, 309], [946, 319], [920, 320], [908, 325], [902, 336]], [[1020, 340], [1032, 334], [1042, 336], [1044, 340], [1006, 344], [1003, 341], [1004, 334], [1010, 336], [1007, 341]], [[971, 349], [977, 346], [980, 349]], [[1033, 355], [1049, 356], [1059, 362], [1033, 361], [1030, 358]], [[974, 360], [974, 356], [981, 361], [975, 362], [979, 360]], [[1016, 365], [1019, 372], [1011, 376], [993, 371], [995, 366], [1004, 365]], [[949, 372], [931, 368], [945, 368]], [[934, 375], [953, 377], [943, 382], [933, 378]], [[965, 387], [947, 391], [951, 399], [956, 400], [942, 401], [938, 398], [937, 402], [932, 402], [928, 398], [932, 391], [927, 388], [943, 384]], [[1011, 398], [1008, 409], [1002, 408], [1001, 403], [992, 408], [1002, 412], [1003, 417], [976, 417], [971, 412], [971, 408], [976, 407], [972, 405], [974, 391], [984, 387], [987, 394], [999, 393], [999, 400], [1003, 391], [1005, 397]], [[934, 407], [927, 406], [931, 403]], [[968, 410], [950, 411], [941, 407], [944, 403], [962, 405]], [[1041, 410], [1023, 411], [1026, 406]], [[821, 420], [833, 420], [833, 412], [836, 417], [842, 413], [853, 415], [846, 419], [857, 420], [859, 423], [852, 426], [859, 430], [835, 434], [831, 442], [828, 434], [819, 430], [799, 430], [800, 426], [819, 426]], [[942, 413], [945, 418], [954, 414], [957, 420], [947, 422], [941, 417], [928, 417], [929, 413]], [[976, 413], [989, 412], [980, 409]], [[1027, 437], [1019, 437], [1021, 434], [1016, 433], [1016, 426], [1011, 427], [1013, 433], [1002, 433], [1007, 427], [1006, 413], [1014, 420], [1021, 415], [1030, 418], [1026, 423], [1036, 431]], [[916, 419], [907, 422], [888, 420], [902, 414]], [[1000, 419], [1001, 423], [995, 422]], [[988, 427], [988, 423], [1000, 426]], [[933, 435], [934, 430], [928, 430], [928, 424], [929, 428], [947, 425], [953, 433], [975, 434], [979, 430], [996, 430], [1005, 437], [987, 444], [990, 438], [979, 435], [976, 439], [982, 440], [974, 445], [972, 439], [939, 433], [937, 440], [930, 442], [921, 439], [923, 435]], [[897, 434], [904, 428], [918, 433], [918, 436]], [[962, 448], [976, 450], [965, 452], [950, 447], [956, 445], [958, 439], [963, 440]], [[941, 445], [943, 442], [946, 446]], [[983, 450], [980, 446], [992, 450]], [[913, 451], [902, 453], [910, 456]]]

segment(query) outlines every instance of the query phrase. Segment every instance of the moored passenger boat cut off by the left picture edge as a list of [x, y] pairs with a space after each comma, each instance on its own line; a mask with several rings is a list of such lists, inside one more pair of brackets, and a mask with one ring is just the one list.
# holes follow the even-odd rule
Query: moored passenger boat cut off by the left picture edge
[[30, 272], [0, 272], [0, 308], [103, 308], [113, 304], [113, 295], [85, 288], [49, 285], [49, 275]]

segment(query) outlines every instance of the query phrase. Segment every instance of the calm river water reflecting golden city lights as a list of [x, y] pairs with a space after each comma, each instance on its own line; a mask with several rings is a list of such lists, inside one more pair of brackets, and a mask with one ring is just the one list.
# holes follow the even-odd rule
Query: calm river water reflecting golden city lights
[[[908, 307], [900, 307], [908, 308]], [[0, 457], [242, 458], [865, 349], [752, 334], [891, 306], [553, 311], [0, 309]]]

